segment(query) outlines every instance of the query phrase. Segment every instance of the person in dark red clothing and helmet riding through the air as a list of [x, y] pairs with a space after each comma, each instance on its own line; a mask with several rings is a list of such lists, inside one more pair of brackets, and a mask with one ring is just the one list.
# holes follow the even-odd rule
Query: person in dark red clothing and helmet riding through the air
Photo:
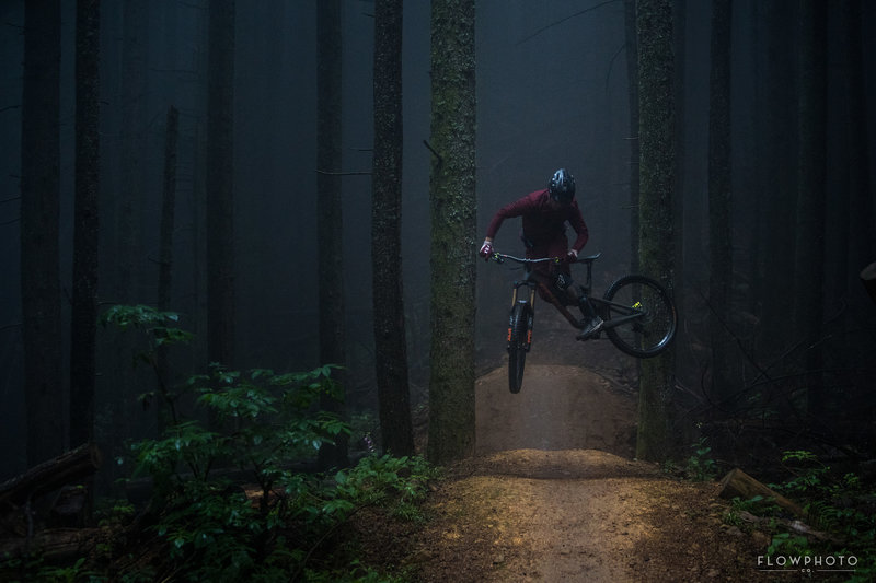
[[[548, 188], [535, 190], [505, 207], [500, 208], [486, 230], [486, 237], [481, 245], [480, 255], [485, 259], [493, 256], [493, 238], [496, 236], [505, 219], [521, 217], [523, 229], [520, 238], [527, 247], [527, 258], [560, 257], [556, 263], [537, 264], [532, 269], [535, 279], [549, 287], [560, 298], [567, 298], [569, 303], [577, 304], [585, 319], [578, 340], [584, 340], [602, 328], [602, 318], [593, 312], [587, 296], [573, 285], [569, 264], [575, 263], [578, 253], [587, 244], [589, 233], [581, 211], [575, 200], [575, 177], [565, 168], [557, 170]], [[572, 247], [566, 238], [566, 223], [577, 234]]]

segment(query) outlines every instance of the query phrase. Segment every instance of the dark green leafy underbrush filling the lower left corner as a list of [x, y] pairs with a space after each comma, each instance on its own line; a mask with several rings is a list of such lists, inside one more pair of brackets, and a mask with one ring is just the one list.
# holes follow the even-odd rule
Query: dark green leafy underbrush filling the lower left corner
[[[155, 340], [164, 315], [136, 306], [116, 316]], [[113, 316], [113, 317], [116, 317]], [[139, 319], [137, 319], [139, 318]], [[151, 326], [151, 328], [150, 328]], [[160, 329], [159, 329], [160, 328]], [[155, 331], [158, 330], [158, 331]], [[152, 360], [151, 362], [154, 362]], [[188, 380], [193, 403], [161, 388], [168, 423], [130, 445], [131, 479], [147, 483], [145, 506], [100, 501], [100, 535], [87, 556], [50, 564], [41, 555], [0, 560], [0, 580], [22, 582], [395, 581], [404, 573], [366, 564], [344, 528], [362, 510], [422, 521], [419, 503], [438, 470], [422, 457], [369, 453], [345, 469], [313, 471], [300, 460], [350, 433], [320, 410], [337, 397], [333, 366], [276, 374], [214, 364]], [[295, 465], [299, 462], [299, 465]]]

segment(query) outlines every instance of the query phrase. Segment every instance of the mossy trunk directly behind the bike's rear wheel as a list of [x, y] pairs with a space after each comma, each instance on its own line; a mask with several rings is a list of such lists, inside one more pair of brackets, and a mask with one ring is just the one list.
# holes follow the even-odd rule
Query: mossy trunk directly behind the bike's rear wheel
[[[672, 4], [638, 0], [639, 74], [639, 264], [644, 275], [672, 289], [672, 185], [675, 109]], [[673, 446], [675, 353], [642, 362], [636, 455], [665, 459]]]

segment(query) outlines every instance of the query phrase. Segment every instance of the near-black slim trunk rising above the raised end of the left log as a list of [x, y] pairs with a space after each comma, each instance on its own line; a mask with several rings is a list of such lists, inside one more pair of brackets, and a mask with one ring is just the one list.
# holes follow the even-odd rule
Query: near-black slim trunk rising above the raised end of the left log
[[78, 0], [76, 19], [76, 205], [70, 313], [70, 443], [94, 438], [100, 167], [99, 0]]

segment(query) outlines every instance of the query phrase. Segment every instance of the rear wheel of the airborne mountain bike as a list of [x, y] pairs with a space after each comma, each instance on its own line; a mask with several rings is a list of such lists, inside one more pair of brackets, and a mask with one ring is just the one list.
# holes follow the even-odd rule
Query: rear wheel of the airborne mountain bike
[[632, 357], [656, 357], [669, 348], [676, 336], [678, 315], [669, 292], [645, 276], [625, 276], [606, 291], [602, 318], [641, 314], [626, 323], [606, 326], [606, 335], [619, 350]]

